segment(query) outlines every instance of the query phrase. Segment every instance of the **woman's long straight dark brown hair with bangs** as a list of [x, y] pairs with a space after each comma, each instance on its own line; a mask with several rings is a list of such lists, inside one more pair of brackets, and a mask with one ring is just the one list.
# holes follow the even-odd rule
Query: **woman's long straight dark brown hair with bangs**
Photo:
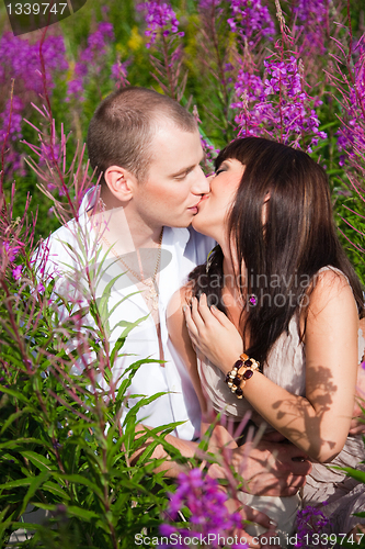
[[[263, 365], [293, 315], [306, 305], [319, 269], [333, 266], [347, 277], [360, 316], [363, 293], [337, 236], [327, 175], [315, 160], [301, 150], [259, 137], [230, 143], [216, 158], [216, 169], [227, 159], [244, 165], [227, 223], [232, 255], [246, 267], [246, 272], [236, 273], [236, 281], [244, 280], [243, 287], [237, 285], [242, 314], [246, 310], [243, 341], [247, 330], [250, 334], [246, 352]], [[197, 267], [190, 280], [193, 294], [206, 293], [208, 303], [226, 312], [219, 247], [208, 267]]]

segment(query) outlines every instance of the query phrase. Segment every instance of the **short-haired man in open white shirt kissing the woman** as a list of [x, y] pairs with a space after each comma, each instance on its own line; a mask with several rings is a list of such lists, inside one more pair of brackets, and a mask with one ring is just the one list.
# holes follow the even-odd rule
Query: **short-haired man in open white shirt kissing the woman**
[[[202, 195], [209, 191], [199, 166], [203, 150], [196, 122], [168, 97], [141, 88], [118, 90], [96, 109], [88, 149], [100, 176], [100, 193], [88, 194], [79, 223], [73, 220], [50, 237], [49, 261], [58, 269], [64, 265], [56, 290], [73, 295], [75, 280], [84, 278], [82, 270], [93, 265], [96, 272], [95, 257], [107, 257], [94, 285], [96, 299], [110, 292], [102, 324], [111, 348], [128, 334], [123, 356], [113, 366], [115, 386], [136, 360], [163, 361], [141, 363], [130, 394], [167, 393], [142, 406], [139, 421], [150, 427], [184, 422], [168, 440], [192, 456], [199, 407], [184, 366], [170, 345], [166, 307], [214, 244], [186, 228]], [[243, 455], [244, 446], [233, 453], [233, 461], [240, 462]], [[253, 493], [292, 495], [304, 484], [309, 469], [306, 456], [296, 447], [266, 440], [251, 450], [244, 475]]]

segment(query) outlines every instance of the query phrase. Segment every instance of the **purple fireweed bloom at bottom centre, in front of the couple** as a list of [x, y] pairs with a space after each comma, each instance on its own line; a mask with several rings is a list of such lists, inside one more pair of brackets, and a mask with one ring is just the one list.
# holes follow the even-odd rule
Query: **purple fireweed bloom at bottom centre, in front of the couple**
[[[195, 467], [193, 462], [193, 469], [179, 475], [176, 491], [170, 493], [164, 524], [160, 526], [162, 536], [171, 536], [171, 545], [167, 545], [167, 548], [175, 546], [179, 541], [180, 545], [178, 544], [176, 547], [185, 549], [186, 540], [192, 538], [195, 538], [193, 544], [198, 547], [204, 547], [206, 540], [209, 540], [209, 547], [214, 548], [223, 547], [221, 544], [237, 549], [248, 548], [247, 535], [244, 535], [247, 522], [244, 513], [241, 515], [238, 512], [242, 507], [238, 493], [239, 490], [248, 488], [243, 480], [248, 457], [251, 448], [260, 440], [262, 433], [258, 433], [253, 438], [253, 432], [248, 430], [246, 453], [241, 455], [238, 470], [235, 471], [231, 448], [218, 441], [219, 450], [217, 451], [217, 448], [209, 447], [209, 438], [214, 426], [219, 423], [227, 427], [232, 439], [237, 439], [247, 427], [250, 412], [244, 415], [235, 430], [225, 415], [214, 419], [213, 417], [212, 425], [196, 452], [196, 456], [204, 460], [203, 464], [207, 464], [207, 472], [202, 471], [203, 464], [197, 468], [197, 462]], [[224, 479], [224, 489], [217, 479]], [[237, 512], [232, 512], [231, 507], [228, 512], [226, 507], [228, 500], [231, 500]], [[181, 523], [181, 519], [185, 522]]]

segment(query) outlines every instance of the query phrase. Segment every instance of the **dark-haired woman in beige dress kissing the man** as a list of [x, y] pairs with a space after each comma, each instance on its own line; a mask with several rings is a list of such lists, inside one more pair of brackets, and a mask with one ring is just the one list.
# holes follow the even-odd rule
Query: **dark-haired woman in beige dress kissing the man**
[[[356, 467], [365, 458], [361, 437], [347, 437], [364, 311], [326, 173], [305, 153], [256, 137], [232, 142], [215, 165], [193, 226], [218, 247], [173, 298], [171, 340], [203, 413], [213, 406], [240, 421], [252, 410], [256, 426], [265, 422], [304, 450], [315, 462], [304, 505], [321, 506], [333, 531], [347, 533], [362, 485], [324, 463]], [[244, 503], [260, 506], [252, 496]], [[283, 536], [295, 508], [285, 502], [275, 515]]]

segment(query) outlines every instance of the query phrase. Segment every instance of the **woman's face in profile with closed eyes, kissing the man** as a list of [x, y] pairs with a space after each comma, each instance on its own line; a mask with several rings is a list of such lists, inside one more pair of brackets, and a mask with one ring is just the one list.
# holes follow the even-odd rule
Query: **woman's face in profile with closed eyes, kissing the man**
[[226, 236], [227, 214], [235, 202], [244, 166], [239, 160], [224, 160], [216, 173], [208, 178], [210, 192], [198, 203], [192, 222], [198, 233], [212, 236], [219, 244]]

